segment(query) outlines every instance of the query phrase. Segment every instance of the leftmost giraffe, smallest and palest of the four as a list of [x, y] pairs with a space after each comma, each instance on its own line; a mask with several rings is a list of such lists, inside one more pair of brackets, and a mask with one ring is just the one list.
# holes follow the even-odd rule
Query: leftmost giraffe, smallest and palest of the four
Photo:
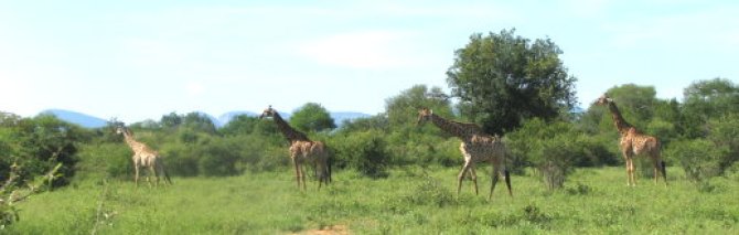
[[[164, 162], [159, 152], [152, 150], [142, 142], [136, 141], [136, 139], [133, 138], [133, 133], [127, 127], [124, 126], [118, 127], [116, 129], [116, 132], [119, 135], [124, 135], [126, 143], [133, 151], [133, 157], [131, 158], [133, 160], [133, 171], [136, 173], [133, 177], [133, 181], [136, 182], [137, 186], [139, 185], [140, 168], [149, 168], [150, 174], [157, 178], [157, 184], [159, 184], [159, 178], [161, 177], [164, 177], [164, 183], [172, 184], [172, 180], [170, 180], [170, 177], [167, 174], [167, 171], [164, 171]], [[149, 181], [149, 175], [147, 175], [147, 182], [149, 182], [149, 185], [151, 185], [151, 181]]]

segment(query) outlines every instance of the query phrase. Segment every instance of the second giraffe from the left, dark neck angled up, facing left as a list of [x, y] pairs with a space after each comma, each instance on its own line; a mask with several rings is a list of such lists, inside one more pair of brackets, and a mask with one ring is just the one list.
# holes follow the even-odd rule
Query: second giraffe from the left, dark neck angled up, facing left
[[292, 159], [292, 164], [296, 169], [298, 188], [302, 190], [306, 189], [306, 174], [302, 170], [302, 164], [304, 162], [313, 163], [315, 165], [319, 179], [319, 190], [321, 190], [322, 183], [329, 185], [329, 182], [331, 182], [331, 164], [329, 162], [325, 145], [321, 141], [312, 141], [308, 139], [306, 133], [290, 127], [271, 105], [261, 113], [259, 119], [265, 117], [271, 117], [280, 132], [282, 132], [285, 138], [290, 141], [290, 159]]

